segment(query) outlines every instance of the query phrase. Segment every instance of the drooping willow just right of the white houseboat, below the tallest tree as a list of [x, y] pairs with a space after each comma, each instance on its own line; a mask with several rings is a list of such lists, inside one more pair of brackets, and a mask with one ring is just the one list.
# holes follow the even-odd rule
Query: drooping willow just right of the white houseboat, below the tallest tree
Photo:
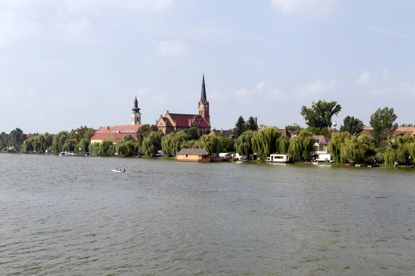
[[314, 144], [313, 133], [308, 130], [301, 130], [296, 137], [290, 139], [288, 154], [293, 161], [308, 161]]

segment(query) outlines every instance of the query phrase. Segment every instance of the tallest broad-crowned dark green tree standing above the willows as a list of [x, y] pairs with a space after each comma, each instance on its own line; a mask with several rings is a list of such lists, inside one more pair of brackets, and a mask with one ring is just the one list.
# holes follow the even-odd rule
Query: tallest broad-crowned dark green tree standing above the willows
[[319, 132], [329, 128], [332, 124], [331, 118], [338, 115], [341, 110], [342, 106], [337, 101], [319, 100], [317, 102], [313, 101], [311, 108], [302, 106], [300, 114], [306, 120], [307, 126], [314, 130], [313, 132]]

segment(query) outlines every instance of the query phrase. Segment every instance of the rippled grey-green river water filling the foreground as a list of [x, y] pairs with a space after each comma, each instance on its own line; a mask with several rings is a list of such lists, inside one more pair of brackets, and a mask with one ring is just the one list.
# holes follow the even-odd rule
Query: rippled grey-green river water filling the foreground
[[415, 275], [414, 180], [0, 154], [0, 275]]

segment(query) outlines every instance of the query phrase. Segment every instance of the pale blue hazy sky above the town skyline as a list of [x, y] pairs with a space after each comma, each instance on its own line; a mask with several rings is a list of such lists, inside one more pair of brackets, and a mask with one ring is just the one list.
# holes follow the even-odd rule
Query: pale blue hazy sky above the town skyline
[[0, 0], [0, 132], [56, 133], [197, 114], [306, 126], [319, 99], [369, 125], [415, 123], [412, 0]]

